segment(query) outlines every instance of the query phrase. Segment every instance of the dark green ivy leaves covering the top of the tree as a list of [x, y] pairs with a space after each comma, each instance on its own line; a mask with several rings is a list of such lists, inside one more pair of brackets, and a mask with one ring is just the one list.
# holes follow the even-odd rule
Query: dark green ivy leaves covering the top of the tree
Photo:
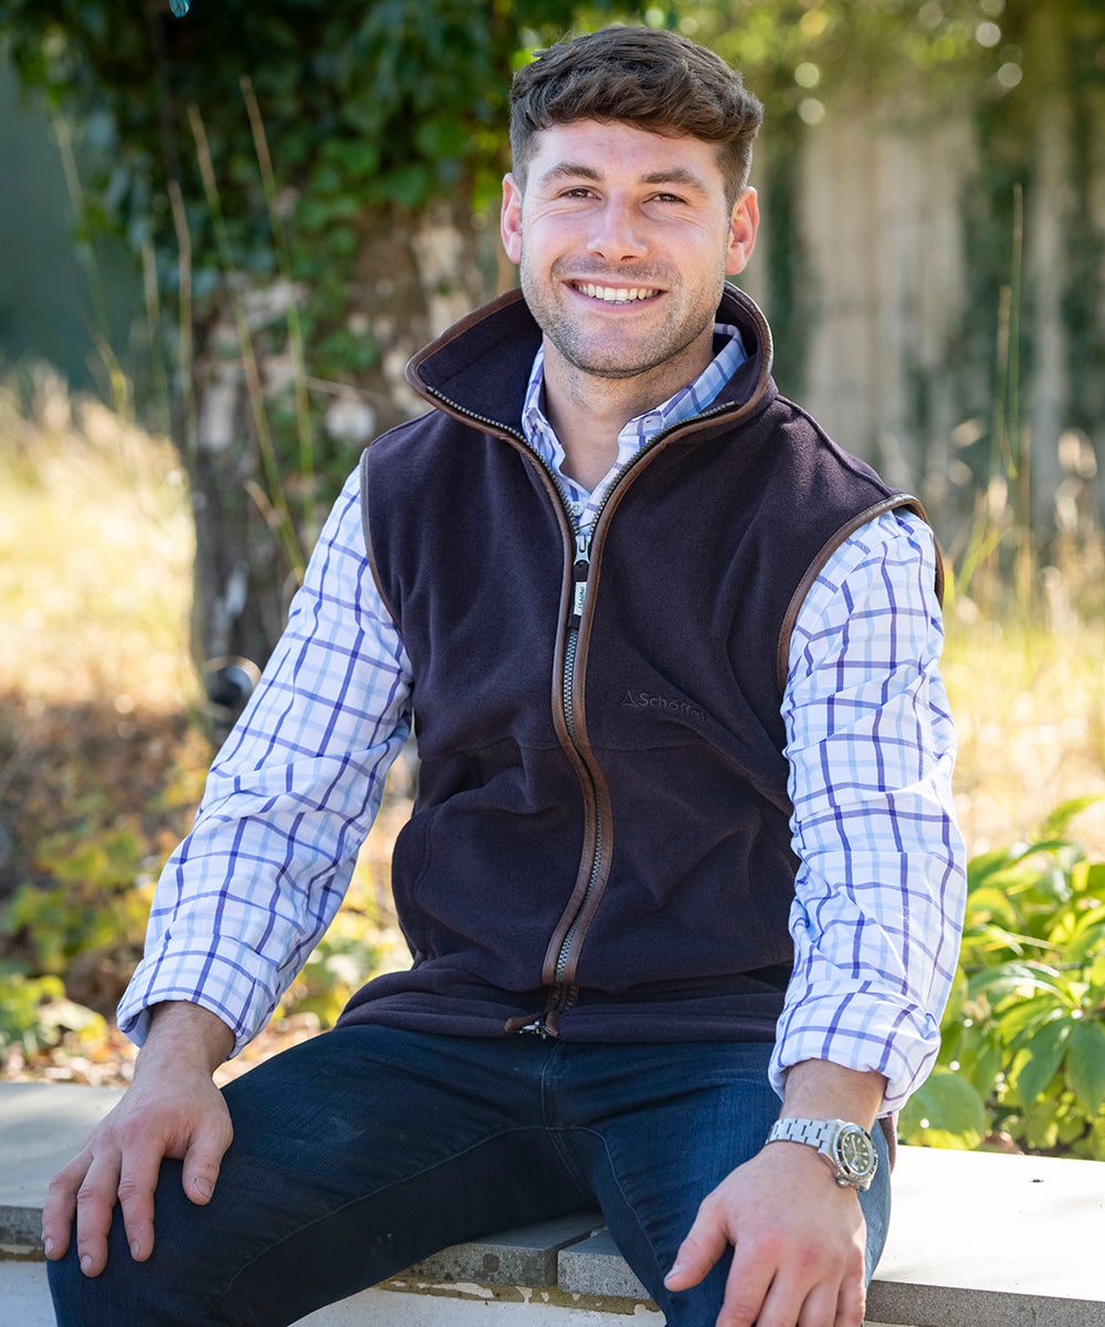
[[[605, 0], [592, 5], [608, 8]], [[350, 277], [366, 212], [417, 212], [486, 195], [505, 165], [511, 70], [520, 49], [570, 27], [569, 0], [248, 0], [119, 7], [113, 0], [7, 0], [11, 57], [84, 126], [85, 224], [151, 242], [179, 277], [184, 204], [200, 296], [227, 271], [272, 273], [273, 206], [296, 277]], [[257, 166], [256, 98], [271, 153]], [[206, 137], [219, 220], [196, 151]], [[395, 215], [395, 224], [403, 224]], [[337, 309], [330, 309], [336, 314]]]

